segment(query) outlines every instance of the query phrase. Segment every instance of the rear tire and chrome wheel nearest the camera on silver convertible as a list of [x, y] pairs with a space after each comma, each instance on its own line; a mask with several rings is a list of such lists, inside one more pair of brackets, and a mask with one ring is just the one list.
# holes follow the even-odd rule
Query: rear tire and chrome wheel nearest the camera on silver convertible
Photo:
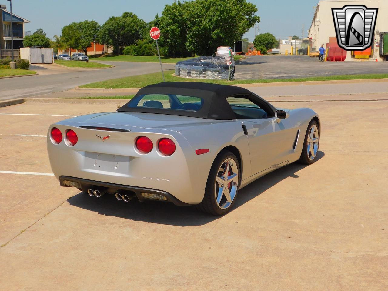
[[228, 213], [236, 201], [241, 184], [240, 165], [236, 156], [222, 151], [213, 162], [203, 200], [196, 207], [213, 215]]

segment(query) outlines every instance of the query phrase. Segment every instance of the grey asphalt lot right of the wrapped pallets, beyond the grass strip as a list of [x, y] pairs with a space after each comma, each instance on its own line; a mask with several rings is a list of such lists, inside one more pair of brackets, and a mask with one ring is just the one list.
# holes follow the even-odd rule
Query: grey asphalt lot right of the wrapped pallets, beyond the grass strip
[[236, 79], [283, 79], [388, 73], [388, 62], [318, 62], [305, 55], [256, 55], [236, 65]]

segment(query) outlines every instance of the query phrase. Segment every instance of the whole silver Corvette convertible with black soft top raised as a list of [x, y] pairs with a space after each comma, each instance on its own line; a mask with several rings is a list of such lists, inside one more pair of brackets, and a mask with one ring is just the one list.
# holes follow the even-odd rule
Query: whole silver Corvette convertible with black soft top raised
[[223, 215], [239, 189], [294, 161], [311, 164], [320, 121], [234, 86], [149, 85], [115, 112], [50, 126], [47, 149], [61, 186], [118, 200], [169, 201]]

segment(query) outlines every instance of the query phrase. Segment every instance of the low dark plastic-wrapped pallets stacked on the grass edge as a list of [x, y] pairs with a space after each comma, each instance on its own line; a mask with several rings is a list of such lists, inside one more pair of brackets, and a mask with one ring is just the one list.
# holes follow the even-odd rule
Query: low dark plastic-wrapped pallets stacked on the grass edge
[[[232, 74], [229, 75], [229, 71]], [[175, 65], [175, 76], [228, 80], [230, 76], [234, 76], [234, 59], [230, 54], [228, 60], [223, 55], [217, 55], [215, 57], [202, 56], [180, 61]]]

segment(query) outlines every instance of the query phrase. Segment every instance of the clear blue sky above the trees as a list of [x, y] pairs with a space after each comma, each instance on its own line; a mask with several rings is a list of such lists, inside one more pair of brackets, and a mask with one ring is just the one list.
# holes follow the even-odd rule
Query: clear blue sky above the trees
[[[318, 0], [248, 0], [258, 8], [256, 15], [261, 17], [259, 33], [270, 32], [277, 38], [302, 34], [305, 25], [305, 37], [314, 16], [313, 6]], [[48, 4], [50, 3], [50, 4]], [[161, 14], [165, 4], [173, 0], [12, 0], [12, 12], [31, 21], [25, 29], [34, 32], [43, 28], [47, 36], [60, 35], [63, 26], [73, 21], [95, 20], [103, 24], [110, 16], [120, 16], [124, 11], [137, 14], [144, 21], [151, 21], [156, 13]], [[0, 0], [7, 5], [9, 1]], [[227, 0], [225, 0], [227, 5]], [[252, 28], [245, 37], [253, 40]]]

